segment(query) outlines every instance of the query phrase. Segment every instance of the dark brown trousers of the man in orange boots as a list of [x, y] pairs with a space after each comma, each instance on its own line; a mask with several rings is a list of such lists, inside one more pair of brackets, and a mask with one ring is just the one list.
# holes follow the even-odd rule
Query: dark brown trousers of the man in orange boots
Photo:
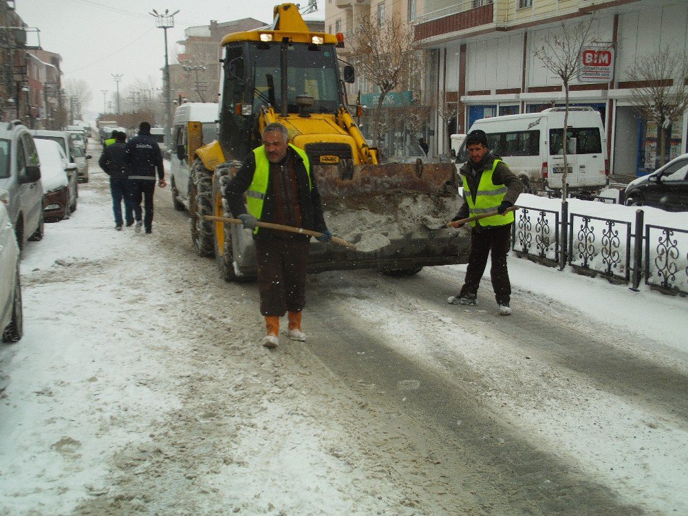
[[261, 314], [281, 317], [287, 310], [303, 310], [309, 239], [256, 239], [255, 243]]

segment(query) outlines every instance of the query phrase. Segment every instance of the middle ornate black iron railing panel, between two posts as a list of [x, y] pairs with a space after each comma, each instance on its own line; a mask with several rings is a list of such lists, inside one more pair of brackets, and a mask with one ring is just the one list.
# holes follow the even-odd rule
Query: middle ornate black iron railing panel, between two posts
[[568, 249], [570, 266], [630, 279], [630, 222], [571, 213]]

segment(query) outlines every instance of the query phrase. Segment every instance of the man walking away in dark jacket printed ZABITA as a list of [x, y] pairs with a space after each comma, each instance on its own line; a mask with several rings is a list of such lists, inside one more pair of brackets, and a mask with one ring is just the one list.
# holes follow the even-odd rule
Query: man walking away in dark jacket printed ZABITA
[[[158, 170], [160, 188], [167, 186], [165, 171], [162, 166], [162, 153], [158, 142], [151, 136], [151, 125], [141, 122], [138, 126], [138, 136], [127, 142], [127, 164], [129, 165], [129, 181], [131, 182], [131, 197], [133, 198], [133, 212], [136, 216], [134, 230], [139, 233], [141, 226], [146, 233], [153, 230], [153, 193], [155, 192], [155, 170]], [[141, 200], [143, 199], [144, 216], [141, 220]]]

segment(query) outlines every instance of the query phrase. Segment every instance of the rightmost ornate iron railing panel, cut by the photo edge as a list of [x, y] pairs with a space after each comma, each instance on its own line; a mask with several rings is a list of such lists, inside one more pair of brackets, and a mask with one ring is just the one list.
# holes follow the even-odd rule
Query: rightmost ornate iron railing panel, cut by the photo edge
[[688, 230], [645, 225], [645, 284], [688, 293]]

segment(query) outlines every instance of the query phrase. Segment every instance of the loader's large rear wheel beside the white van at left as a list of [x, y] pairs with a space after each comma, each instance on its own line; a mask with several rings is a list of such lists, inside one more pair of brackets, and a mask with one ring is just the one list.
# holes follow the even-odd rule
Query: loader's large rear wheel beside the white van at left
[[201, 160], [195, 160], [189, 175], [189, 215], [191, 241], [199, 256], [213, 257], [213, 222], [204, 215], [213, 215], [213, 173]]

